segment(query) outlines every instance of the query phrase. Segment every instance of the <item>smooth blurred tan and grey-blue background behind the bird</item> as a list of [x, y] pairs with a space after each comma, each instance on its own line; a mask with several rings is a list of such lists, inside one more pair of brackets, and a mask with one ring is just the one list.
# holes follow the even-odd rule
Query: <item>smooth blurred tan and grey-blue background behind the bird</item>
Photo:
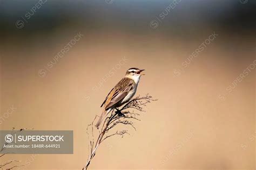
[[[158, 101], [146, 107], [137, 131], [100, 146], [91, 169], [255, 169], [255, 70], [233, 84], [255, 60], [252, 1], [181, 1], [157, 28], [150, 23], [169, 1], [49, 1], [22, 28], [16, 21], [37, 1], [0, 2], [1, 130], [74, 131], [73, 154], [1, 162], [81, 169], [87, 125], [125, 71], [139, 67], [146, 75], [137, 94]], [[213, 32], [218, 36], [184, 67]]]

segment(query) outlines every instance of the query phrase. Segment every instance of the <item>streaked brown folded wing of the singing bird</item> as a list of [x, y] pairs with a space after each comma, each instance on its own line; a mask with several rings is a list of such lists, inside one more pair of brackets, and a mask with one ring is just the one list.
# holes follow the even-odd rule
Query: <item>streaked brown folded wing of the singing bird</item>
[[125, 96], [134, 88], [134, 81], [130, 78], [123, 78], [114, 86], [113, 90], [105, 100], [105, 110], [124, 99]]

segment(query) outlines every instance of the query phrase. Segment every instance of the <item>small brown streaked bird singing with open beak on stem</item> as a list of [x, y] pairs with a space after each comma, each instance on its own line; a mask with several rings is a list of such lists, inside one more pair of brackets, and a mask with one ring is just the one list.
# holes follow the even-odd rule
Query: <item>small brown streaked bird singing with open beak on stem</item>
[[137, 86], [140, 80], [140, 76], [144, 70], [138, 68], [131, 68], [126, 71], [125, 77], [122, 78], [116, 86], [107, 94], [107, 97], [103, 101], [103, 112], [100, 115], [96, 127], [99, 128], [100, 123], [105, 118], [107, 113], [111, 112], [114, 108], [120, 107], [123, 104], [131, 100], [137, 90]]

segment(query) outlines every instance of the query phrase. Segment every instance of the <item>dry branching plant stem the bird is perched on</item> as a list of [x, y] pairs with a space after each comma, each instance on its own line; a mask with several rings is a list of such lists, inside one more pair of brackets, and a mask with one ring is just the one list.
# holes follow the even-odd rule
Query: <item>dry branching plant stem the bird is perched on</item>
[[[95, 130], [95, 125], [94, 125], [94, 121], [95, 119], [92, 121], [92, 123], [90, 125], [87, 126], [87, 135], [89, 138], [89, 156], [87, 158], [87, 162], [86, 165], [83, 167], [84, 169], [87, 169], [88, 166], [90, 165], [91, 160], [93, 159], [93, 157], [95, 157], [95, 153], [97, 151], [97, 148], [99, 147], [99, 145], [106, 140], [107, 138], [110, 138], [114, 135], [120, 135], [122, 138], [124, 136], [124, 134], [129, 134], [127, 132], [127, 130], [120, 130], [120, 131], [116, 131], [116, 133], [113, 134], [107, 134], [109, 132], [109, 130], [111, 130], [112, 128], [116, 127], [116, 125], [118, 124], [123, 124], [123, 125], [130, 125], [131, 127], [134, 128], [134, 130], [136, 130], [136, 128], [133, 126], [133, 121], [132, 120], [139, 120], [137, 117], [140, 115], [139, 113], [134, 113], [134, 112], [130, 112], [129, 109], [132, 110], [137, 110], [139, 112], [145, 112], [143, 110], [143, 107], [146, 106], [146, 104], [151, 103], [151, 101], [156, 101], [156, 99], [152, 99], [151, 96], [149, 96], [149, 94], [146, 94], [146, 96], [144, 97], [136, 97], [134, 99], [132, 99], [131, 101], [129, 101], [127, 104], [125, 104], [119, 111], [122, 113], [120, 114], [120, 112], [114, 112], [114, 110], [111, 112], [111, 115], [109, 117], [107, 117], [102, 125], [102, 128], [99, 128], [98, 132], [98, 137], [97, 139], [95, 138], [93, 132]], [[89, 127], [91, 127], [91, 138], [89, 137]], [[95, 141], [96, 139], [96, 141]]]

